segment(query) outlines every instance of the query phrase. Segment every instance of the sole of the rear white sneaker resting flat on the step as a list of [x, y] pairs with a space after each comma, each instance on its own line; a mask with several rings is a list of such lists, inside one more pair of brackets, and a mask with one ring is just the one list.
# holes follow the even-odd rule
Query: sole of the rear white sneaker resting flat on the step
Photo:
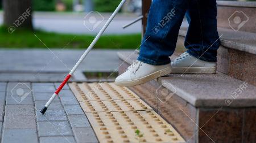
[[216, 67], [172, 67], [171, 73], [200, 73], [200, 74], [215, 74]]

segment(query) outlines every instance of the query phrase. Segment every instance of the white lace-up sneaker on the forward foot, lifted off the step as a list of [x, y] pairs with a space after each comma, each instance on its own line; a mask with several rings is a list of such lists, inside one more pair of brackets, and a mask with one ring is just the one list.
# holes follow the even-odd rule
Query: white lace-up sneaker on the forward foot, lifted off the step
[[154, 66], [136, 60], [127, 71], [115, 79], [118, 86], [135, 86], [171, 73], [170, 64]]

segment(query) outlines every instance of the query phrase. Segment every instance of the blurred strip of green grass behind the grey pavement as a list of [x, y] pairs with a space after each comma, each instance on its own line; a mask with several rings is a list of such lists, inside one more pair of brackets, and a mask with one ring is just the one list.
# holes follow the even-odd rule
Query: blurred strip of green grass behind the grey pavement
[[[49, 48], [86, 49], [94, 36], [60, 34], [43, 31], [17, 29], [9, 33], [7, 28], [0, 27], [0, 47], [5, 48]], [[136, 49], [141, 43], [141, 34], [105, 35], [100, 38], [94, 49]]]

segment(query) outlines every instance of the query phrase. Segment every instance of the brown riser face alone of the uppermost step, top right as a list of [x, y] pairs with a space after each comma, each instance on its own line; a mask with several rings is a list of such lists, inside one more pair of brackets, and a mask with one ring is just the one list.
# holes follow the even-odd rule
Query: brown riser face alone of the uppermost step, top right
[[[218, 27], [233, 29], [234, 31], [245, 31], [245, 32], [256, 33], [255, 12], [256, 12], [256, 7], [253, 8], [253, 7], [218, 6], [218, 10], [217, 10], [218, 24], [217, 25]], [[234, 23], [234, 18], [236, 16], [241, 18], [241, 22], [238, 24]], [[243, 23], [242, 21], [245, 21], [245, 23]], [[241, 28], [239, 28], [238, 25], [241, 25]]]

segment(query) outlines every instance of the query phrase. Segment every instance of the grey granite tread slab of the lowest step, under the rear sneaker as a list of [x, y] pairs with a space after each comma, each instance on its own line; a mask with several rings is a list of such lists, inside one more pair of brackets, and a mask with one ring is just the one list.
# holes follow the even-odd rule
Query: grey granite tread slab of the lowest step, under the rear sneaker
[[[128, 64], [138, 57], [137, 54], [122, 52], [118, 53], [118, 56]], [[195, 107], [256, 107], [256, 87], [224, 73], [170, 74], [160, 77], [157, 81], [169, 90], [175, 89], [177, 96]], [[245, 85], [246, 89], [240, 93], [241, 87]]]

